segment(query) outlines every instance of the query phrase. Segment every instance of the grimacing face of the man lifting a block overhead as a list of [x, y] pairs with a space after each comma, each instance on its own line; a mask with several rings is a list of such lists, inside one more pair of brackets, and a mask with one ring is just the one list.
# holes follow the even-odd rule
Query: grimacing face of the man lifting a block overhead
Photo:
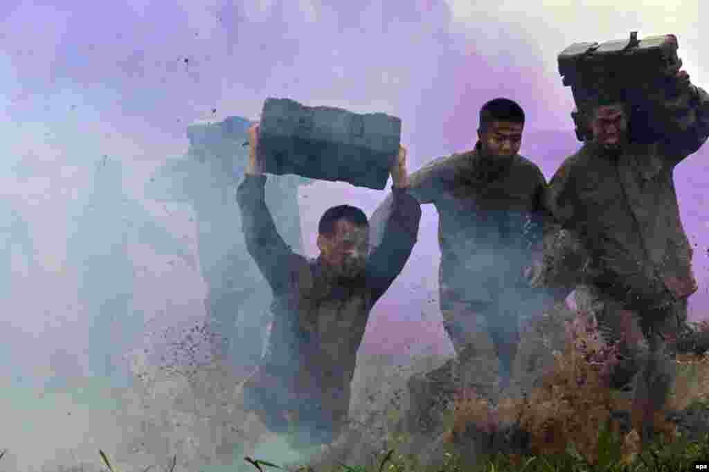
[[318, 235], [318, 247], [338, 276], [354, 279], [362, 274], [367, 262], [369, 227], [338, 220], [333, 235]]

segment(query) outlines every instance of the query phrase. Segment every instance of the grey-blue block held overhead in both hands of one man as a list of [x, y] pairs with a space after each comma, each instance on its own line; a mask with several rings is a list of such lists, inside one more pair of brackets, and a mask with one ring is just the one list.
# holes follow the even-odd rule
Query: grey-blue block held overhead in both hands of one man
[[386, 187], [400, 142], [399, 118], [289, 99], [267, 99], [259, 126], [264, 172], [379, 190]]

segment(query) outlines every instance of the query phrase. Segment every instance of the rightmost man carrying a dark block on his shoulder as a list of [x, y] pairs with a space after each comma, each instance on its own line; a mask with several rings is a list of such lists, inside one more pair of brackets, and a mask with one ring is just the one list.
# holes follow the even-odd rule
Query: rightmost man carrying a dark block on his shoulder
[[[672, 172], [709, 135], [709, 96], [678, 69], [579, 104], [593, 138], [549, 184], [547, 206], [558, 227], [545, 237], [552, 242], [545, 242], [537, 279], [559, 289], [559, 298], [584, 284], [579, 308], [596, 316], [608, 342], [618, 342], [622, 357], [610, 383], [630, 388], [635, 377], [632, 415], [646, 440], [674, 381], [666, 340], [684, 326], [687, 298], [697, 290]], [[633, 117], [649, 119], [631, 120], [630, 105], [644, 107]]]

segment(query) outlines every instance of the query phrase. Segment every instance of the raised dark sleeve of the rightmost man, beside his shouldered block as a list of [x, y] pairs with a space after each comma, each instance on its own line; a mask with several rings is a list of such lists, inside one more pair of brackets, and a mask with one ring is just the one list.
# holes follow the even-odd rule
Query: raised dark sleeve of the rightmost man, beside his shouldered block
[[697, 152], [709, 136], [709, 95], [690, 84], [676, 96], [660, 91], [649, 98], [661, 128], [661, 154], [669, 164], [679, 164]]

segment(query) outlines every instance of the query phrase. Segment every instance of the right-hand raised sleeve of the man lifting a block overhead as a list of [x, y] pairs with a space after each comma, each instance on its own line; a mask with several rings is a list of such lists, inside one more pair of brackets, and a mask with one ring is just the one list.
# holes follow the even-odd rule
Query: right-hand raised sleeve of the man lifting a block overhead
[[[406, 265], [418, 237], [421, 207], [407, 189], [392, 189], [391, 206], [377, 208], [372, 220], [384, 219], [384, 233], [367, 259], [367, 284], [379, 299]], [[389, 215], [384, 216], [384, 213]]]

